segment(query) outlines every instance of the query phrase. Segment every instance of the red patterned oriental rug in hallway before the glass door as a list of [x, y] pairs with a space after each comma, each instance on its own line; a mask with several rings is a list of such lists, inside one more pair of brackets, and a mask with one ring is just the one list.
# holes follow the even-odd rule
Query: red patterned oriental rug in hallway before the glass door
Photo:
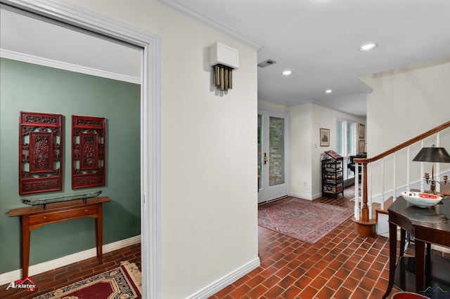
[[352, 208], [286, 197], [259, 206], [258, 225], [314, 244], [352, 215]]

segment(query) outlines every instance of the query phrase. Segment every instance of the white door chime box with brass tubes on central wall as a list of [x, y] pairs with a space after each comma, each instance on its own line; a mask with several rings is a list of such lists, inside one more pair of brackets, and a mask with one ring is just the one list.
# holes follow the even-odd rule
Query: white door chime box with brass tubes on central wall
[[233, 88], [232, 71], [239, 67], [238, 50], [216, 42], [210, 46], [209, 55], [214, 68], [214, 85], [221, 91]]

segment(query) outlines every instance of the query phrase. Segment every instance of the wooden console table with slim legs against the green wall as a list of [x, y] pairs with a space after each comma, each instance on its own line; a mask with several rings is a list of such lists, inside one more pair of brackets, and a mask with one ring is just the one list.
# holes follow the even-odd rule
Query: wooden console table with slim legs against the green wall
[[102, 258], [102, 204], [108, 202], [108, 197], [91, 199], [77, 199], [63, 201], [44, 206], [30, 206], [15, 208], [8, 213], [8, 217], [20, 216], [22, 222], [22, 274], [28, 277], [30, 263], [30, 232], [37, 227], [49, 223], [61, 222], [77, 218], [91, 217], [96, 220], [96, 248], [100, 263]]

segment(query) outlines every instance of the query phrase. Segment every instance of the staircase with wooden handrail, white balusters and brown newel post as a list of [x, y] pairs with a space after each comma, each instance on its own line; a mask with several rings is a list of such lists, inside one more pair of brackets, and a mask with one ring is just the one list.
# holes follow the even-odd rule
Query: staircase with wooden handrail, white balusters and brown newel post
[[[411, 189], [417, 189], [420, 192], [429, 189], [424, 185], [422, 176], [431, 166], [427, 163], [424, 168], [423, 162], [413, 162], [412, 159], [422, 147], [432, 145], [449, 147], [449, 128], [450, 121], [447, 121], [375, 157], [354, 159], [355, 178], [358, 178], [358, 166], [361, 164], [361, 182], [355, 180], [354, 217], [352, 218], [356, 234], [361, 237], [375, 237], [378, 219], [381, 217], [387, 219], [387, 208], [397, 199], [398, 194]], [[420, 171], [418, 169], [411, 171], [411, 168], [418, 168], [419, 165]], [[437, 164], [434, 179], [440, 181], [440, 175], [439, 164]], [[445, 189], [448, 190], [449, 187], [445, 186]]]

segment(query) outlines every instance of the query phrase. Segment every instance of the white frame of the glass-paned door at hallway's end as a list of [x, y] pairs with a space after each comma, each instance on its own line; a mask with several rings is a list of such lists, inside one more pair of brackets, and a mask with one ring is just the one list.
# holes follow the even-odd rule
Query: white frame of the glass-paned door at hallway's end
[[[285, 155], [284, 167], [285, 168], [284, 169], [285, 169], [285, 188], [286, 188], [285, 194], [289, 195], [290, 194], [290, 117], [289, 117], [289, 112], [281, 110], [281, 109], [258, 107], [258, 114], [262, 114], [262, 116], [263, 116], [263, 126], [264, 126], [264, 115], [267, 115], [269, 117], [280, 117], [280, 118], [285, 119], [285, 126], [284, 126], [284, 137], [285, 137], [285, 140], [284, 140], [284, 155]], [[264, 141], [263, 141], [263, 147], [264, 147]], [[269, 161], [270, 161], [270, 157], [269, 157]], [[258, 189], [258, 192], [259, 192], [259, 189]], [[284, 196], [284, 194], [282, 196]], [[274, 197], [272, 199], [265, 199], [264, 201], [259, 202], [259, 197], [258, 197], [258, 203], [261, 204], [261, 203], [264, 203], [266, 201], [271, 201], [276, 198], [278, 198], [278, 197]]]

